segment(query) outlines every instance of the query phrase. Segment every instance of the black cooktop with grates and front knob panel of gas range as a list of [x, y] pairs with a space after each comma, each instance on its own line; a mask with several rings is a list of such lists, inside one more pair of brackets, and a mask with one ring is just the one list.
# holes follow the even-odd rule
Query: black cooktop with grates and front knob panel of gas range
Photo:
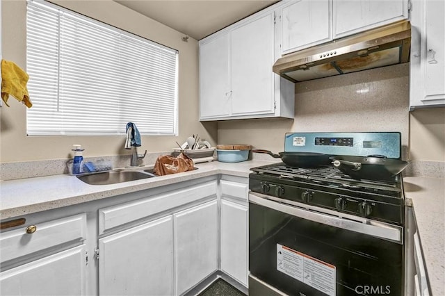
[[357, 180], [337, 167], [289, 167], [274, 163], [252, 168], [249, 188], [272, 197], [403, 225], [401, 174], [382, 181]]

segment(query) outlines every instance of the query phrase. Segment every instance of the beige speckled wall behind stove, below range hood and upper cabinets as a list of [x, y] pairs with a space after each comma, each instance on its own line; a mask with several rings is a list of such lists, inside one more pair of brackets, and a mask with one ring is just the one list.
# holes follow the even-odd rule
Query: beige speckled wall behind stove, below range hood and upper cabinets
[[218, 144], [284, 149], [286, 132], [400, 131], [407, 158], [409, 64], [296, 83], [294, 120], [218, 123]]

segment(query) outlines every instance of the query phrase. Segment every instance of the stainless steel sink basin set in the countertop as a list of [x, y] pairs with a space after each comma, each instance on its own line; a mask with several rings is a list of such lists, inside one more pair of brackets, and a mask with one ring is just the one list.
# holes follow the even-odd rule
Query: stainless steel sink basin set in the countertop
[[109, 185], [127, 181], [147, 179], [147, 178], [152, 178], [154, 176], [155, 176], [154, 174], [147, 174], [137, 171], [111, 171], [111, 172], [85, 174], [83, 176], [77, 176], [77, 178], [90, 185]]

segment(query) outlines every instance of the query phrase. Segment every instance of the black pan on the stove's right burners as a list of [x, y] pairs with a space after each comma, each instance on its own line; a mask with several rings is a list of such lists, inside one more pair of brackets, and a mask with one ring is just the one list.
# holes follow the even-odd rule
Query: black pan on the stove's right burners
[[399, 174], [408, 163], [381, 155], [332, 156], [332, 164], [353, 179], [383, 180]]

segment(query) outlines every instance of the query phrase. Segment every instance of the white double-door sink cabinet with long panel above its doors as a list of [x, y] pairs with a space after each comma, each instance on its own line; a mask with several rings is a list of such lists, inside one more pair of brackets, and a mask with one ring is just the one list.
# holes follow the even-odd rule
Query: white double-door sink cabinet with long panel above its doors
[[99, 295], [182, 295], [218, 270], [217, 186], [99, 208]]

